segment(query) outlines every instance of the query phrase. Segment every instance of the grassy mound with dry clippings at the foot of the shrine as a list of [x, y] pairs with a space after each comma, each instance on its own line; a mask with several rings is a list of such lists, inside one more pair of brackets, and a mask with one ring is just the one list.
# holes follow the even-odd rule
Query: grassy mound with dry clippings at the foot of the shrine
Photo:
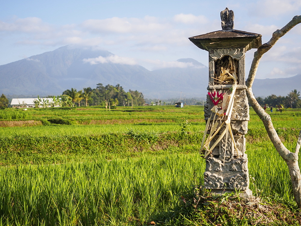
[[299, 225], [296, 205], [279, 201], [268, 197], [258, 204], [242, 199], [239, 191], [216, 195], [195, 187], [181, 196], [174, 210], [159, 216], [156, 225]]

